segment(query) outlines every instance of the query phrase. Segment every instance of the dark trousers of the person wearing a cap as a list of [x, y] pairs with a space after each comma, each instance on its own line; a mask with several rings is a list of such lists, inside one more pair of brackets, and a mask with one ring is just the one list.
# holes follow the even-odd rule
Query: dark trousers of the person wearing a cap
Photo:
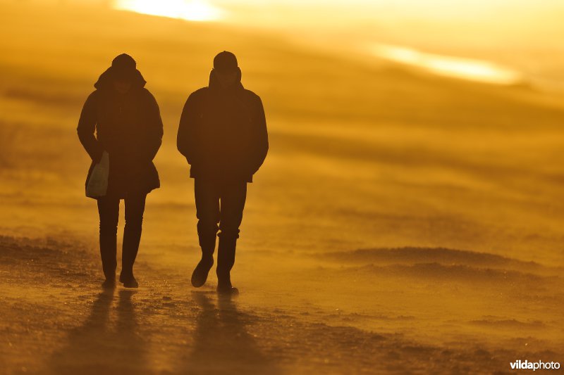
[[230, 281], [229, 272], [235, 263], [235, 246], [247, 198], [247, 182], [196, 178], [194, 195], [202, 254], [214, 253], [216, 235], [219, 236], [216, 272], [220, 282]]

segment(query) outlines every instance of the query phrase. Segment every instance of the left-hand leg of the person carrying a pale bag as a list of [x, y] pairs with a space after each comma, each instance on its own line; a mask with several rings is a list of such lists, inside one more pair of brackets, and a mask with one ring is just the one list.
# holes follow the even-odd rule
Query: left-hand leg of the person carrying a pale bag
[[100, 217], [100, 255], [102, 269], [109, 282], [116, 279], [116, 247], [118, 235], [119, 198], [102, 197], [98, 199]]

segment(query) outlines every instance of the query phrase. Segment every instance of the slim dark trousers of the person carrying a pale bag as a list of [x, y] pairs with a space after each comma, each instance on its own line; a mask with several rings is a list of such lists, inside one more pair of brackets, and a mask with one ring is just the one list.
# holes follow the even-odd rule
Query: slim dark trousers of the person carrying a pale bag
[[[133, 275], [133, 263], [139, 250], [143, 212], [145, 212], [145, 198], [147, 194], [128, 194], [125, 201], [125, 229], [123, 231], [123, 246], [121, 253], [121, 273], [125, 276]], [[116, 277], [116, 248], [118, 234], [120, 198], [104, 196], [98, 199], [98, 213], [100, 215], [100, 255], [102, 255], [102, 269], [106, 279]]]

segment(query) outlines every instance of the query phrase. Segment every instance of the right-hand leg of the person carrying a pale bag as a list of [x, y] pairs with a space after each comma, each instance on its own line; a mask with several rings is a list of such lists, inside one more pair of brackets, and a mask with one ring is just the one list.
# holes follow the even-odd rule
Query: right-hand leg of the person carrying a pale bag
[[125, 198], [125, 229], [123, 231], [123, 248], [121, 256], [120, 281], [133, 282], [133, 264], [139, 250], [141, 230], [143, 224], [143, 212], [145, 212], [145, 193], [128, 193]]

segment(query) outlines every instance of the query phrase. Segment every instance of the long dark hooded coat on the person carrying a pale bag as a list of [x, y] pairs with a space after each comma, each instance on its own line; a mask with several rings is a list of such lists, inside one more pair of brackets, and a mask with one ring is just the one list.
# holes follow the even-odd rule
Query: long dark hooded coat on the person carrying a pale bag
[[106, 70], [82, 108], [78, 138], [92, 158], [86, 184], [102, 152], [107, 151], [107, 195], [125, 198], [129, 192], [148, 193], [160, 186], [153, 158], [161, 146], [163, 123], [157, 101], [145, 89], [145, 83], [137, 70], [132, 87], [122, 95], [112, 87]]

